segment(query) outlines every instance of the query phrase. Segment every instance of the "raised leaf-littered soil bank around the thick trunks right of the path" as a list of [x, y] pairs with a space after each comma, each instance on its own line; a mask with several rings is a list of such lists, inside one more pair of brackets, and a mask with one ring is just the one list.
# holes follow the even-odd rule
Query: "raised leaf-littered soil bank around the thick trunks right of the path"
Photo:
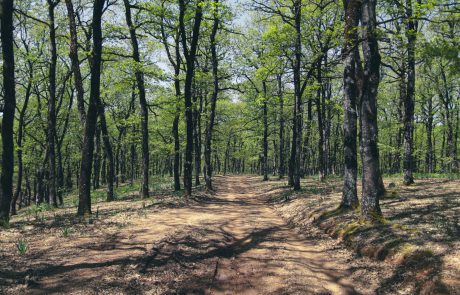
[[460, 294], [460, 181], [423, 179], [404, 186], [390, 178], [385, 183], [380, 224], [360, 221], [359, 208], [337, 210], [340, 179], [308, 178], [298, 193], [272, 181], [270, 200], [290, 224], [318, 226], [356, 253], [394, 265], [379, 293]]

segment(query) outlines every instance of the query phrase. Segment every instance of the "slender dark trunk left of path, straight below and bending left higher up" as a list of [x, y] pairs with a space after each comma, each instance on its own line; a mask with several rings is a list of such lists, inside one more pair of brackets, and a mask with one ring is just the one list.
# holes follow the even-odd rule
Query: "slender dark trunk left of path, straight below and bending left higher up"
[[136, 27], [131, 19], [131, 7], [129, 0], [124, 0], [126, 23], [129, 27], [131, 36], [131, 45], [133, 47], [133, 58], [136, 62], [136, 82], [139, 91], [139, 109], [141, 112], [141, 132], [142, 132], [142, 197], [149, 197], [149, 114], [147, 100], [145, 97], [144, 73], [141, 70], [141, 60], [139, 53], [139, 44], [137, 41]]

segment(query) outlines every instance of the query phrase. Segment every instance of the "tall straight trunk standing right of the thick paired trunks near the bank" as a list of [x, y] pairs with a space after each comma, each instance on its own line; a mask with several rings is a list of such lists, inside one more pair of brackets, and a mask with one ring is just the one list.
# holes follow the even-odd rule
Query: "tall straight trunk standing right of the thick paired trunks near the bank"
[[414, 149], [414, 104], [415, 104], [415, 42], [417, 25], [412, 17], [412, 0], [406, 0], [407, 37], [407, 89], [404, 100], [404, 184], [414, 183], [412, 151]]

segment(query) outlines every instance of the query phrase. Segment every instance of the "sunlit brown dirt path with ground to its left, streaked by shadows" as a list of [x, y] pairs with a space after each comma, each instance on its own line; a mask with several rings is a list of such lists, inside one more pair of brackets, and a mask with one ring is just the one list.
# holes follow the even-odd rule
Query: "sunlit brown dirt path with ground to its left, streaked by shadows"
[[74, 209], [15, 217], [0, 232], [0, 293], [374, 294], [394, 275], [314, 226], [290, 228], [266, 202], [273, 185], [259, 178], [217, 177], [216, 187], [188, 204], [100, 203], [86, 225], [72, 220]]

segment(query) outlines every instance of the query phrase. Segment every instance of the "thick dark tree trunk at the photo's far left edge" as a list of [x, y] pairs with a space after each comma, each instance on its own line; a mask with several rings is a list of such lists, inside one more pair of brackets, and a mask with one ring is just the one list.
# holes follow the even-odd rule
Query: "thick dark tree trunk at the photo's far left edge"
[[3, 57], [3, 117], [2, 117], [2, 172], [0, 175], [0, 226], [10, 219], [10, 203], [13, 195], [14, 173], [14, 113], [16, 92], [14, 80], [14, 37], [13, 0], [3, 0], [0, 4], [0, 30]]

